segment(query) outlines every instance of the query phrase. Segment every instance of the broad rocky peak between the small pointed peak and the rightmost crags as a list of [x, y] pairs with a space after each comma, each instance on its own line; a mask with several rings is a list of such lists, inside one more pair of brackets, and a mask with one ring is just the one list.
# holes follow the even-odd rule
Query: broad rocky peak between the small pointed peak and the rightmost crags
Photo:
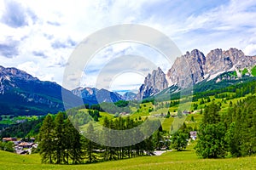
[[[201, 82], [204, 79], [204, 66], [206, 57], [199, 50], [195, 49], [191, 53], [177, 58], [172, 68], [167, 72], [166, 77], [172, 84], [180, 87], [189, 87], [191, 84]], [[169, 85], [172, 85], [169, 84]]]

